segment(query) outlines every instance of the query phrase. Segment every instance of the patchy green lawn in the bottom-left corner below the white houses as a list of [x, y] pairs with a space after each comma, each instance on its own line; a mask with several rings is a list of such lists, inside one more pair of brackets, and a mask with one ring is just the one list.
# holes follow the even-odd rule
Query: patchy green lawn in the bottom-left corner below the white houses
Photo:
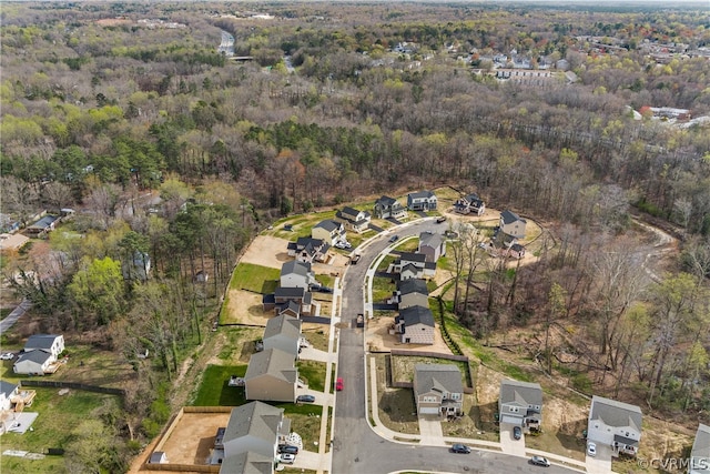
[[[98, 417], [98, 409], [108, 403], [119, 403], [118, 397], [78, 390], [60, 395], [59, 389], [37, 389], [32, 406], [24, 409], [26, 412], [39, 413], [32, 424], [32, 431], [24, 434], [3, 434], [2, 451], [44, 453], [49, 447], [65, 448], [72, 438], [73, 430], [83, 420]], [[63, 456], [47, 456], [37, 461], [1, 456], [0, 472], [43, 474], [67, 471]]]

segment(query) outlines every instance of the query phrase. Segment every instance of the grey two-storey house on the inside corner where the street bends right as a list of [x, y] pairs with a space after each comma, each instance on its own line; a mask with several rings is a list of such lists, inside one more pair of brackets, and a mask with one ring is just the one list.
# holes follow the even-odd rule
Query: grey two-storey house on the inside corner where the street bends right
[[416, 364], [414, 399], [420, 415], [457, 416], [464, 409], [462, 372], [454, 364]]

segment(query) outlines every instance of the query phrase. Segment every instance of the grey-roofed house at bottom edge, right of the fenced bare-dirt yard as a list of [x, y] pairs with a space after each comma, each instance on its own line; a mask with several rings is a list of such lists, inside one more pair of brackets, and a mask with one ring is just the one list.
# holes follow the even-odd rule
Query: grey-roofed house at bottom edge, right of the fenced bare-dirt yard
[[274, 461], [291, 431], [291, 420], [283, 409], [262, 402], [252, 402], [232, 410], [222, 444], [220, 473], [273, 474]]

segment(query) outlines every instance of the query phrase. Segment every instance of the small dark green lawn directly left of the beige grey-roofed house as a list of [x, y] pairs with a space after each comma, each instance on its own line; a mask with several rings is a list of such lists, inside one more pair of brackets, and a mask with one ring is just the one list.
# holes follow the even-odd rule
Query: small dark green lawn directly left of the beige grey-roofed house
[[232, 375], [243, 377], [246, 365], [207, 365], [192, 405], [240, 406], [246, 403], [243, 386], [229, 386]]

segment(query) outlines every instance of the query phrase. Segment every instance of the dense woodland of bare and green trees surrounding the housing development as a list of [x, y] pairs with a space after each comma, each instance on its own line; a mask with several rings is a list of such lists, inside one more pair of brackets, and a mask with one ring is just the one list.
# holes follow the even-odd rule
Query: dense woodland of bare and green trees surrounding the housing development
[[[464, 278], [480, 262], [463, 240], [453, 311], [474, 334], [589, 321], [617, 394], [669, 417], [710, 410], [707, 11], [4, 2], [0, 14], [2, 224], [79, 210], [50, 258], [11, 255], [2, 271], [43, 331], [132, 360], [112, 418], [125, 438], [166, 420], [170, 384], [255, 232], [442, 184], [559, 230], [539, 266], [489, 269], [486, 292]], [[554, 79], [497, 80], [499, 56]], [[693, 119], [659, 120], [663, 108]], [[682, 242], [662, 280], [643, 278], [632, 213]], [[154, 278], [126, 276], [143, 254]], [[144, 346], [158, 366], [135, 357]]]

